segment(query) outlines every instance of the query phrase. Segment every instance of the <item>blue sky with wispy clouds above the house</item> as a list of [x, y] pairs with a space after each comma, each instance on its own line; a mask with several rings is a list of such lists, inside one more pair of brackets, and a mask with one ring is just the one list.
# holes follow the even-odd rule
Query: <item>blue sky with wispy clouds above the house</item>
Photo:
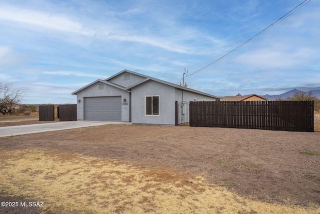
[[[123, 69], [178, 83], [303, 0], [0, 0], [0, 81], [23, 103], [76, 103], [71, 92]], [[217, 96], [320, 89], [320, 0], [188, 76]]]

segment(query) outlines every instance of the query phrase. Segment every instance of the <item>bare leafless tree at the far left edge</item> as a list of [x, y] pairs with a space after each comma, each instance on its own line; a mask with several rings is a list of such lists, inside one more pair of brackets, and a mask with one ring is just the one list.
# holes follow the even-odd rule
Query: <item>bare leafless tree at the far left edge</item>
[[8, 82], [0, 82], [0, 112], [4, 115], [11, 113], [13, 107], [19, 104], [25, 95], [26, 88], [12, 88]]

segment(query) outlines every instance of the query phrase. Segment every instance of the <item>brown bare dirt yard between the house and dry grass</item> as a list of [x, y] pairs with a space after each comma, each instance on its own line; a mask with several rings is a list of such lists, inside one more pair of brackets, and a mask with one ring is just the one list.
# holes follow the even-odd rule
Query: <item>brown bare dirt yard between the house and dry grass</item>
[[262, 201], [320, 205], [320, 132], [112, 124], [0, 138], [0, 149], [29, 147], [200, 173]]

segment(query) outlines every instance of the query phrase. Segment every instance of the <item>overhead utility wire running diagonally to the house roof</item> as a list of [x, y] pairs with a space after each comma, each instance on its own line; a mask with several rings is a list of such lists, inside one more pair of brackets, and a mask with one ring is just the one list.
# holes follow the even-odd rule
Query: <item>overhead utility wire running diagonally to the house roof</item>
[[[197, 72], [200, 72], [201, 70], [207, 68], [208, 66], [210, 66], [211, 64], [216, 63], [217, 61], [223, 59], [224, 57], [226, 57], [227, 55], [229, 55], [231, 52], [235, 51], [236, 49], [240, 48], [241, 46], [243, 46], [244, 44], [248, 43], [249, 41], [251, 41], [253, 38], [257, 37], [258, 35], [266, 32], [269, 28], [273, 27], [274, 25], [276, 25], [277, 23], [279, 23], [280, 21], [284, 20], [286, 17], [288, 17], [289, 15], [291, 15], [293, 12], [297, 11], [299, 8], [301, 8], [302, 6], [304, 6], [305, 4], [307, 4], [308, 2], [310, 2], [311, 0], [304, 0], [301, 3], [299, 3], [297, 6], [295, 6], [293, 9], [291, 9], [290, 11], [288, 11], [287, 13], [285, 13], [282, 17], [278, 18], [276, 21], [274, 21], [273, 23], [271, 23], [270, 25], [268, 25], [267, 27], [265, 27], [263, 30], [261, 30], [260, 32], [258, 32], [257, 34], [255, 34], [254, 36], [252, 36], [251, 38], [249, 38], [248, 40], [246, 40], [245, 42], [243, 42], [242, 44], [240, 44], [239, 46], [235, 47], [234, 49], [232, 49], [231, 51], [229, 51], [228, 53], [224, 54], [223, 56], [219, 57], [218, 59], [212, 61], [211, 63], [205, 65], [204, 67], [194, 71], [193, 73], [190, 73], [188, 75], [186, 75], [184, 78], [187, 78], [188, 76], [191, 76]], [[177, 82], [179, 83], [182, 80], [182, 78]], [[176, 83], [176, 84], [177, 84]]]

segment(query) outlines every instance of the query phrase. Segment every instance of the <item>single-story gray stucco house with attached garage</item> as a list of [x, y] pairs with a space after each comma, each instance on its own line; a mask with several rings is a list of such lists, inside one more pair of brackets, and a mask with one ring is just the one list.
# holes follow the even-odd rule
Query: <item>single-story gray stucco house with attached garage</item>
[[175, 124], [175, 101], [220, 99], [130, 70], [97, 79], [72, 94], [77, 96], [78, 120], [149, 124]]

